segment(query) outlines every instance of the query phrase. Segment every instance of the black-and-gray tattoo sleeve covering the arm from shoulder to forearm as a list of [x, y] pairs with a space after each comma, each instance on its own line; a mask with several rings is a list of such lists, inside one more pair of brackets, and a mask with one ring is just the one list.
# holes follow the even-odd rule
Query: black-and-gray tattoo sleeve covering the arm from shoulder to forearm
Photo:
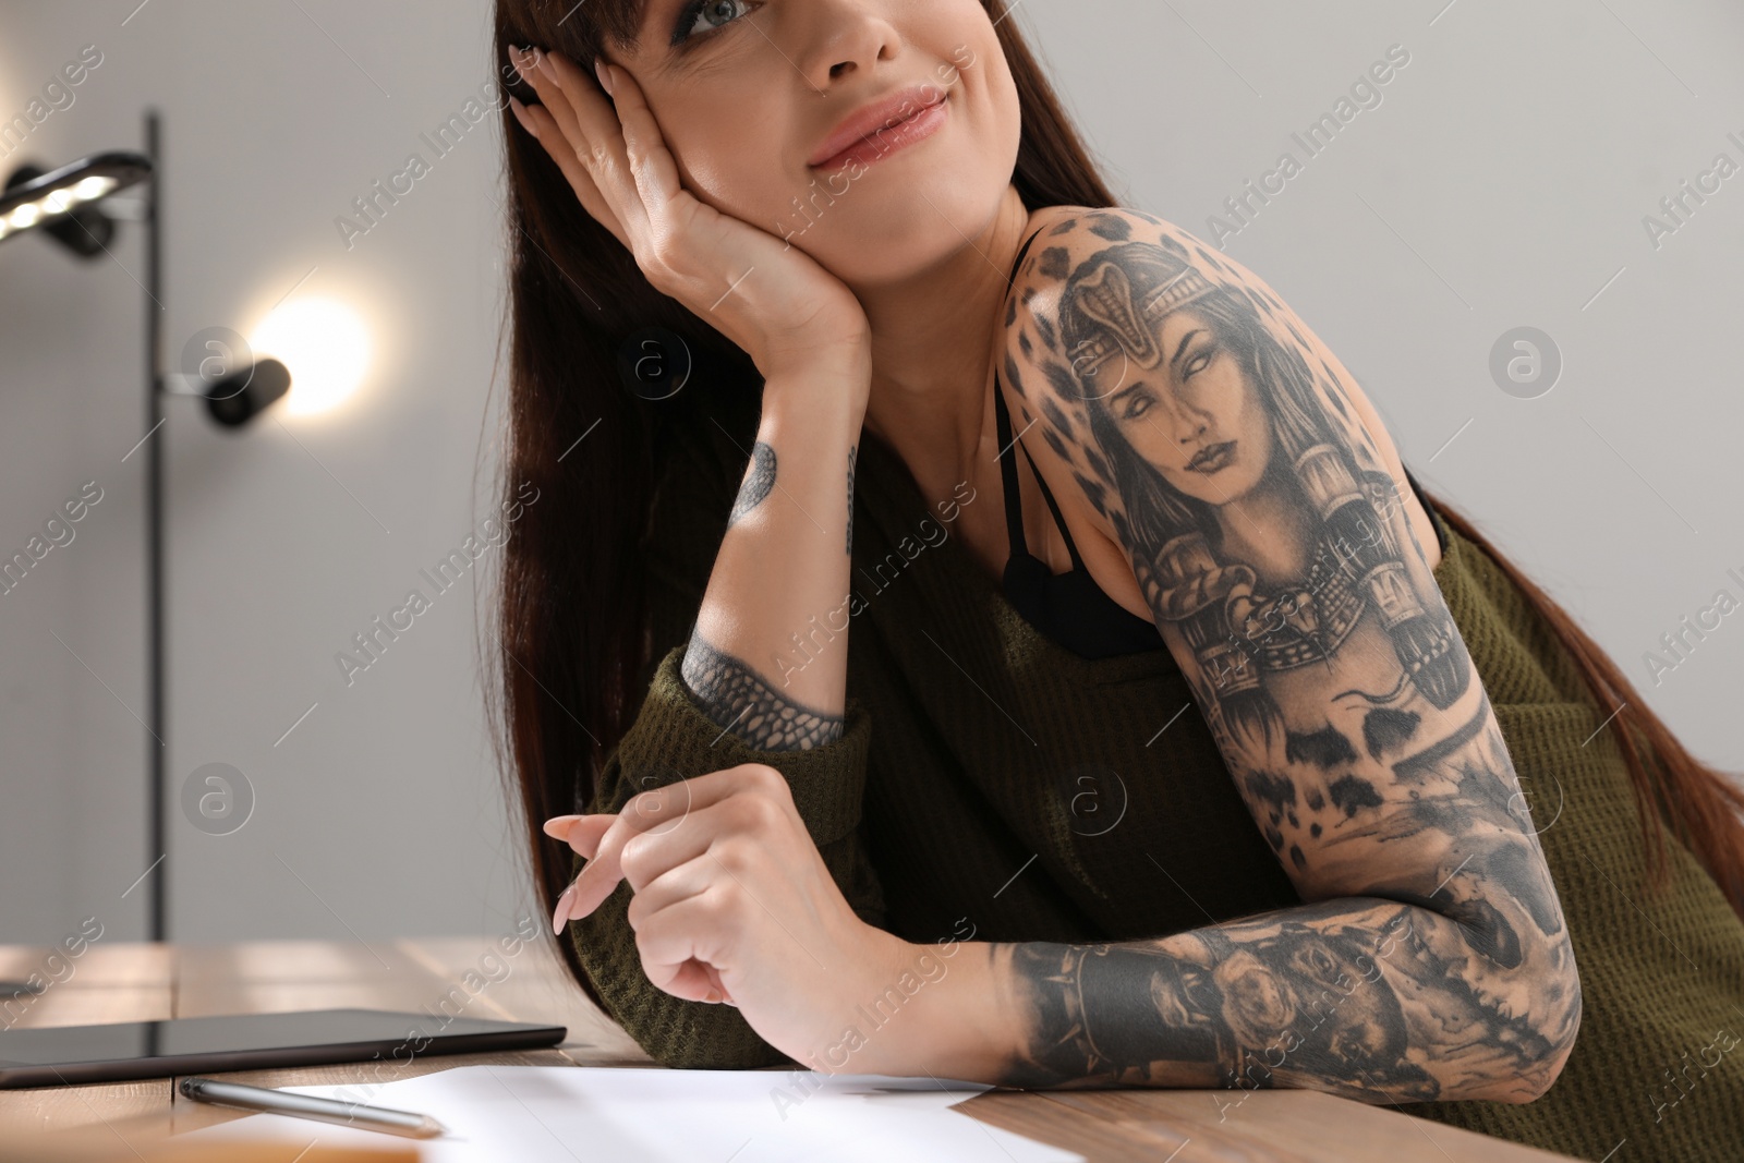
[[[1003, 371], [1125, 549], [1305, 905], [1010, 943], [1020, 1086], [1524, 1102], [1580, 1024], [1495, 711], [1348, 371], [1271, 289], [1132, 211], [1045, 228]], [[1357, 401], [1362, 401], [1359, 406]]]

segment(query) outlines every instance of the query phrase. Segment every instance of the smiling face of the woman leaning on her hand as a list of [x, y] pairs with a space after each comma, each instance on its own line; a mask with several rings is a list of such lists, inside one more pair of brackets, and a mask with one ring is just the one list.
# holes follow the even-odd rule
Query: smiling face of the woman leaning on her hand
[[[645, 92], [685, 188], [849, 284], [961, 251], [1012, 185], [1017, 87], [978, 0], [645, 0], [635, 51], [605, 54]], [[814, 164], [844, 119], [910, 89], [895, 117], [944, 96], [942, 115]]]

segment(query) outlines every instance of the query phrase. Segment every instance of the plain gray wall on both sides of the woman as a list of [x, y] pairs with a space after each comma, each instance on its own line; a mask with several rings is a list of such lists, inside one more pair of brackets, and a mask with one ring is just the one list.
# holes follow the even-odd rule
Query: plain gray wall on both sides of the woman
[[[171, 357], [201, 328], [246, 330], [310, 269], [303, 291], [352, 303], [378, 345], [331, 418], [228, 436], [174, 401], [153, 438], [171, 457], [171, 785], [221, 762], [256, 795], [230, 835], [171, 809], [153, 875], [173, 935], [504, 929], [530, 894], [483, 729], [474, 577], [352, 685], [333, 663], [406, 589], [429, 593], [419, 570], [492, 513], [495, 126], [351, 249], [333, 225], [410, 152], [429, 159], [419, 134], [485, 84], [488, 5], [136, 3], [0, 0], [0, 115], [84, 45], [103, 52], [0, 166], [136, 146], [155, 105]], [[1744, 598], [1727, 574], [1744, 577], [1744, 173], [1688, 199], [1657, 244], [1643, 221], [1718, 153], [1744, 166], [1744, 14], [1029, 0], [1015, 19], [1130, 206], [1212, 237], [1226, 199], [1296, 155], [1268, 204], [1224, 213], [1228, 253], [1339, 354], [1428, 488], [1566, 603], [1699, 755], [1744, 767], [1744, 612], [1674, 668], [1645, 659], [1718, 589]], [[1291, 134], [1336, 119], [1392, 45], [1409, 63], [1308, 157]], [[75, 541], [0, 596], [0, 940], [58, 940], [87, 915], [143, 933], [143, 888], [122, 896], [155, 858], [134, 717], [143, 455], [120, 460], [141, 434], [140, 277], [134, 230], [85, 269], [40, 239], [0, 246], [0, 549], [84, 481], [103, 488]], [[1521, 326], [1561, 354], [1549, 392], [1491, 371]]]

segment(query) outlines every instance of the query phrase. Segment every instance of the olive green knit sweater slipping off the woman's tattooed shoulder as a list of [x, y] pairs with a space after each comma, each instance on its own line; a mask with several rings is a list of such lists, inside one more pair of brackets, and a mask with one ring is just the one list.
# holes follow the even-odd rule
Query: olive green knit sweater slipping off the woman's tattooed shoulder
[[[680, 429], [671, 448], [647, 546], [647, 697], [593, 811], [769, 764], [853, 908], [914, 942], [968, 938], [970, 926], [970, 940], [1134, 940], [1301, 903], [1203, 718], [1175, 718], [1191, 692], [1168, 650], [1083, 659], [1029, 626], [952, 535], [954, 504], [1001, 499], [923, 499], [870, 432], [855, 483], [846, 732], [809, 752], [757, 752], [722, 732], [678, 673], [755, 434], [755, 415], [717, 418], [727, 431]], [[1432, 516], [1448, 541], [1435, 581], [1529, 795], [1584, 1018], [1543, 1098], [1402, 1109], [1577, 1158], [1744, 1160], [1744, 1048], [1732, 1051], [1744, 924], [1676, 842], [1669, 891], [1650, 893], [1629, 774], [1601, 731], [1611, 708], [1594, 706], [1500, 568]], [[837, 635], [821, 649], [844, 645]], [[738, 1010], [649, 983], [628, 900], [621, 884], [569, 928], [612, 1017], [668, 1065], [788, 1062]]]

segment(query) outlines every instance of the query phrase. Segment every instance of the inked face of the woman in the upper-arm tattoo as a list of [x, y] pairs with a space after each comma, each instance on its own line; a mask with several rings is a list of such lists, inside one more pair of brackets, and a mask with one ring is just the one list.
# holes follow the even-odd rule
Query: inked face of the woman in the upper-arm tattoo
[[1254, 488], [1271, 460], [1271, 422], [1259, 389], [1191, 307], [1165, 316], [1160, 342], [1162, 363], [1139, 370], [1102, 406], [1175, 490], [1226, 504]]

